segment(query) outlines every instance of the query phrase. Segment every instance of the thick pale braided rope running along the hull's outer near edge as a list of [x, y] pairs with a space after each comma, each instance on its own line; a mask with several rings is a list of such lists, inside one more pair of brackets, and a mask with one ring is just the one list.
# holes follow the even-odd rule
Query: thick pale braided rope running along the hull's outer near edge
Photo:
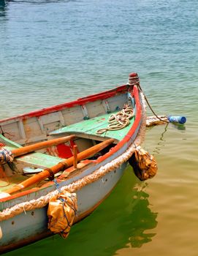
[[[113, 159], [113, 161], [108, 162], [106, 165], [99, 167], [99, 169], [95, 170], [94, 173], [91, 173], [90, 175], [85, 176], [84, 178], [81, 178], [80, 180], [77, 180], [72, 184], [61, 187], [61, 192], [63, 192], [65, 189], [66, 191], [71, 193], [77, 192], [77, 190], [82, 189], [88, 184], [91, 184], [94, 181], [99, 180], [99, 178], [102, 178], [110, 171], [115, 170], [124, 162], [128, 161], [130, 157], [132, 157], [132, 154], [134, 153], [137, 146], [139, 146], [145, 138], [145, 98], [142, 92], [140, 92], [140, 100], [142, 101], [142, 123], [140, 125], [140, 131], [137, 135], [137, 138], [134, 140], [134, 143], [132, 143], [131, 146], [129, 146], [129, 148], [127, 148], [126, 151], [123, 152], [123, 154]], [[60, 193], [60, 191], [56, 189], [53, 192], [50, 192], [47, 195], [44, 195], [37, 199], [30, 200], [28, 202], [18, 203], [17, 205], [12, 206], [12, 208], [4, 209], [4, 211], [0, 212], [0, 221], [15, 217], [16, 215], [21, 214], [23, 212], [25, 212], [26, 214], [26, 211], [31, 211], [34, 210], [35, 208], [42, 208], [46, 206], [47, 203], [49, 203], [49, 200], [51, 197], [53, 197], [53, 195], [58, 195], [58, 193]]]

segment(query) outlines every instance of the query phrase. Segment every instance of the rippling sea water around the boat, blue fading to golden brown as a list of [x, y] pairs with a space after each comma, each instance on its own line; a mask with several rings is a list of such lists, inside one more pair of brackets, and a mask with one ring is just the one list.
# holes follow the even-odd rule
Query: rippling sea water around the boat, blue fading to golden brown
[[147, 130], [157, 175], [140, 182], [127, 167], [66, 240], [6, 255], [198, 255], [198, 1], [1, 2], [0, 118], [111, 89], [130, 72], [158, 115], [187, 118]]

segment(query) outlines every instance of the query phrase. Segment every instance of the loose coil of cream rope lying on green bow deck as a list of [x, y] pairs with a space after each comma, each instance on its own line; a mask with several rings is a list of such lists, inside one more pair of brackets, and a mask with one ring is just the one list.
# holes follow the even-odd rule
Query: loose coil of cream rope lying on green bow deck
[[124, 105], [123, 109], [116, 114], [112, 114], [108, 120], [107, 128], [102, 128], [96, 131], [96, 134], [101, 135], [107, 131], [115, 131], [123, 129], [130, 124], [130, 119], [134, 116], [134, 111], [129, 105]]

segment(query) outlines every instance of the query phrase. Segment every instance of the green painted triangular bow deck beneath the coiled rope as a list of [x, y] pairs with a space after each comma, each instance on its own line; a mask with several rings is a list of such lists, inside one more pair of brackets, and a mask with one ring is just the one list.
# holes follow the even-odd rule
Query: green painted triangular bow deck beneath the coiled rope
[[[117, 112], [116, 112], [117, 113]], [[129, 132], [129, 129], [132, 127], [134, 123], [134, 117], [130, 119], [130, 124], [119, 130], [115, 131], [107, 131], [102, 135], [98, 135], [96, 132], [99, 129], [105, 129], [108, 125], [108, 119], [113, 113], [107, 113], [103, 116], [97, 116], [88, 120], [80, 121], [76, 124], [70, 124], [68, 127], [62, 127], [61, 129], [57, 129], [54, 132], [51, 132], [50, 135], [61, 135], [61, 134], [86, 134], [86, 135], [94, 135], [102, 138], [114, 138], [115, 140], [122, 140], [124, 136]]]

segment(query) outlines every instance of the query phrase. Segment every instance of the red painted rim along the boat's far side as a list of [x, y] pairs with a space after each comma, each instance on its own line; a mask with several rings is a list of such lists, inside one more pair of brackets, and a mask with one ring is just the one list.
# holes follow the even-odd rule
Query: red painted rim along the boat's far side
[[20, 116], [14, 116], [12, 118], [5, 118], [5, 119], [2, 119], [0, 121], [0, 123], [2, 123], [4, 121], [9, 121], [9, 120], [15, 120], [18, 118], [21, 118], [24, 120], [26, 118], [30, 118], [30, 117], [34, 117], [34, 116], [43, 116], [47, 113], [53, 113], [53, 112], [56, 112], [59, 110], [63, 110], [64, 108], [72, 108], [77, 105], [85, 105], [86, 103], [94, 102], [97, 99], [107, 99], [107, 98], [115, 96], [116, 94], [125, 93], [126, 91], [128, 91], [128, 87], [129, 87], [128, 85], [118, 86], [117, 88], [114, 88], [114, 89], [111, 89], [108, 91], [103, 91], [99, 94], [93, 94], [88, 97], [83, 97], [83, 98], [77, 99], [73, 102], [66, 102], [66, 103], [63, 103], [60, 105], [55, 105], [55, 106], [52, 106], [49, 108], [42, 108], [41, 110], [32, 111], [32, 112], [25, 113]]

